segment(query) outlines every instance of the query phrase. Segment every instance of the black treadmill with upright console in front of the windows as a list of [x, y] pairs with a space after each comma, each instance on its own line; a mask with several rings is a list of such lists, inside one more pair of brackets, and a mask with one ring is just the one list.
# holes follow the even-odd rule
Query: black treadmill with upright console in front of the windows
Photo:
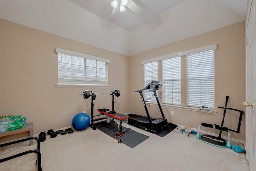
[[[139, 127], [141, 129], [145, 129], [146, 131], [150, 131], [153, 133], [159, 133], [159, 131], [163, 130], [164, 126], [168, 126], [168, 122], [167, 119], [165, 119], [164, 117], [164, 113], [162, 111], [162, 107], [160, 106], [158, 97], [156, 95], [156, 90], [161, 89], [162, 88], [162, 84], [159, 83], [159, 81], [151, 81], [151, 83], [149, 83], [148, 85], [146, 85], [146, 87], [144, 87], [143, 89], [134, 91], [134, 92], [139, 92], [140, 93], [140, 97], [142, 99], [142, 103], [144, 105], [145, 111], [147, 116], [141, 116], [141, 115], [136, 115], [133, 113], [128, 114], [128, 124], [129, 125], [133, 125], [135, 127]], [[146, 106], [144, 97], [142, 95], [142, 91], [144, 90], [148, 90], [148, 91], [152, 91], [154, 93], [154, 96], [156, 97], [156, 101], [158, 104], [158, 107], [160, 109], [160, 112], [162, 114], [162, 118], [152, 118], [150, 117], [149, 113], [148, 113], [148, 108]]]

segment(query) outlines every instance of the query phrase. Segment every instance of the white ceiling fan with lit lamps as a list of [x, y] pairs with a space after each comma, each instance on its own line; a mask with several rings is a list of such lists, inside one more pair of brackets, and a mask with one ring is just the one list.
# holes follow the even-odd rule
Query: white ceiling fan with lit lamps
[[118, 12], [124, 12], [125, 6], [130, 8], [135, 14], [138, 16], [144, 16], [145, 11], [142, 10], [137, 4], [135, 4], [132, 0], [113, 0], [111, 3], [111, 6], [113, 7], [110, 20], [116, 20], [116, 16], [118, 15]]

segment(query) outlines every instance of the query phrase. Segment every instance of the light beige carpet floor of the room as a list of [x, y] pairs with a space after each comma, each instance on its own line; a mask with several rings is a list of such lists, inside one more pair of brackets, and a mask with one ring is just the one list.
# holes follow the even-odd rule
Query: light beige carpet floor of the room
[[[58, 135], [41, 143], [43, 171], [249, 171], [245, 153], [215, 147], [176, 133], [159, 137], [124, 124], [148, 139], [130, 148], [113, 143], [112, 137], [88, 127], [66, 135]], [[47, 131], [47, 130], [46, 130]], [[232, 142], [231, 142], [232, 143]], [[0, 158], [36, 149], [29, 142], [0, 148]], [[0, 171], [37, 171], [36, 154], [31, 153], [0, 163]]]

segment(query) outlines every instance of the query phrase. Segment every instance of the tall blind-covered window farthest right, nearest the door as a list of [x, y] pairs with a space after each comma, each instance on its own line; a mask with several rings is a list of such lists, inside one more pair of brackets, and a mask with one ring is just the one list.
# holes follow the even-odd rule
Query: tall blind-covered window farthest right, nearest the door
[[214, 50], [187, 56], [188, 106], [214, 108]]

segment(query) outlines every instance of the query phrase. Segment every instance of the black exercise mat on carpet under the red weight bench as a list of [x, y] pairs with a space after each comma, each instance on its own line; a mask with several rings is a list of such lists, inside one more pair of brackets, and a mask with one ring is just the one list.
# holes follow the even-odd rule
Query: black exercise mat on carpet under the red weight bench
[[[94, 124], [94, 127], [113, 138], [115, 137], [116, 132], [120, 131], [120, 127], [118, 129], [117, 126], [118, 124], [116, 123], [106, 123], [106, 121]], [[131, 148], [136, 147], [137, 145], [149, 138], [149, 136], [138, 133], [130, 128], [123, 127], [123, 131], [124, 130], [126, 130], [126, 135], [118, 137], [116, 141], [121, 139], [122, 143]]]

